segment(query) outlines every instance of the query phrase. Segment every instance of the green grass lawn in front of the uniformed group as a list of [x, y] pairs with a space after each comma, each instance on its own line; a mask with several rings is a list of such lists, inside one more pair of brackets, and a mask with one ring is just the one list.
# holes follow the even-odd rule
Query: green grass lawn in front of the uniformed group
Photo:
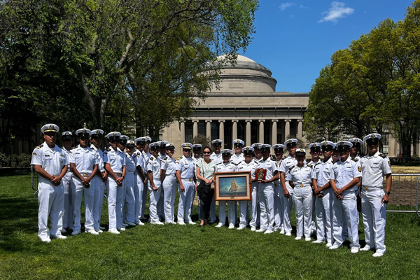
[[[351, 254], [349, 248], [330, 251], [325, 244], [278, 233], [197, 225], [146, 224], [121, 235], [82, 233], [44, 244], [36, 235], [33, 194], [30, 176], [0, 177], [0, 279], [420, 278], [415, 214], [387, 214], [382, 258], [373, 258], [371, 251]], [[106, 215], [104, 207], [102, 221]], [[361, 221], [359, 230], [364, 246]]]

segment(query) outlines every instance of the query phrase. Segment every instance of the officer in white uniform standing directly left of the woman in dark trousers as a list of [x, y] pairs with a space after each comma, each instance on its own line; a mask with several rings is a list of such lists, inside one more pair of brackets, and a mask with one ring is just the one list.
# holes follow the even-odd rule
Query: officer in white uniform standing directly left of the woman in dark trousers
[[179, 181], [179, 204], [178, 223], [179, 225], [195, 225], [191, 221], [191, 203], [193, 203], [193, 189], [197, 189], [195, 178], [195, 161], [190, 157], [193, 144], [184, 143], [181, 145], [183, 156], [176, 160], [176, 178]]

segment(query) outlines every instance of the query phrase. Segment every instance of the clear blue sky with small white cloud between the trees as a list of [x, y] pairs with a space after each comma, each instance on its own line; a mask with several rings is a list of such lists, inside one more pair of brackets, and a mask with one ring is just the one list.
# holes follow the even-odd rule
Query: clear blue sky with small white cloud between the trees
[[272, 71], [276, 91], [309, 92], [331, 55], [381, 20], [403, 20], [412, 1], [260, 0], [253, 41], [240, 53]]

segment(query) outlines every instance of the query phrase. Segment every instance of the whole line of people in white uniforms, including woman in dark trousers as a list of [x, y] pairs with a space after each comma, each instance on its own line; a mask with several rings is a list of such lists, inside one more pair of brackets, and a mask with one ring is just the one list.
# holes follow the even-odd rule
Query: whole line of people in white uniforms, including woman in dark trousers
[[[228, 204], [229, 229], [239, 224], [237, 230], [249, 226], [255, 232], [291, 236], [290, 213], [294, 205], [295, 239], [311, 241], [311, 235], [316, 232], [312, 243], [326, 243], [330, 249], [342, 247], [348, 237], [351, 253], [375, 250], [374, 257], [386, 253], [385, 210], [392, 176], [389, 159], [378, 151], [379, 134], [369, 134], [363, 141], [354, 138], [337, 143], [312, 143], [309, 145], [311, 160], [307, 162], [307, 153], [297, 148], [297, 139], [273, 146], [260, 143], [244, 146], [244, 141], [235, 139], [234, 151], [222, 150], [223, 141], [216, 139], [211, 141], [213, 153], [209, 147], [202, 149], [200, 144], [184, 143], [183, 156], [175, 160], [174, 144], [151, 143], [150, 137], [133, 141], [120, 132], [111, 132], [106, 134], [109, 148], [102, 151], [103, 130], [77, 130], [76, 148], [71, 148], [73, 134], [69, 131], [62, 132], [63, 148], [55, 144], [57, 125], [44, 125], [41, 132], [45, 142], [34, 149], [31, 159], [39, 175], [38, 237], [41, 241], [66, 239], [62, 233], [68, 230], [71, 235], [80, 234], [82, 197], [85, 232], [102, 233], [105, 192], [109, 232], [113, 234], [120, 234], [127, 226], [144, 225], [147, 194], [149, 221], [153, 225], [164, 225], [162, 221], [195, 224], [191, 213], [196, 193], [200, 202], [199, 226], [216, 223], [216, 203], [210, 187], [215, 183], [214, 173], [249, 171], [251, 200], [239, 201], [239, 211], [237, 202], [219, 201], [216, 228], [226, 225]], [[368, 153], [360, 158], [363, 142]], [[272, 149], [274, 155], [270, 154]], [[288, 155], [283, 158], [284, 150]], [[179, 205], [175, 222], [177, 189]], [[358, 239], [358, 196], [361, 196], [365, 228], [363, 248]]]

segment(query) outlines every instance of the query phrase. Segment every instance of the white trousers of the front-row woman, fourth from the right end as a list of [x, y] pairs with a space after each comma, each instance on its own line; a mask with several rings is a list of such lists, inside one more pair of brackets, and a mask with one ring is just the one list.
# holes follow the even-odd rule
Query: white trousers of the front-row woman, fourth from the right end
[[310, 186], [293, 190], [293, 204], [296, 215], [296, 237], [311, 237], [312, 230], [312, 188]]

